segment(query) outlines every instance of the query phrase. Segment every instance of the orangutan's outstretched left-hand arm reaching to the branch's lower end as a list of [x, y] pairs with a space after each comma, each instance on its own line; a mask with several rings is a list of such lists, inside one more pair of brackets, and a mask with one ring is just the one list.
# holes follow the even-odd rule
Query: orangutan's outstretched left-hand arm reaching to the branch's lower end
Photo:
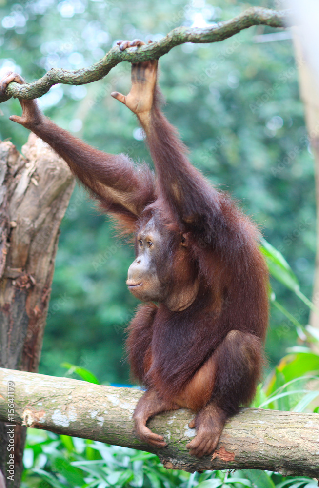
[[[24, 82], [19, 75], [10, 73], [0, 82], [0, 90], [5, 90], [11, 81]], [[154, 200], [153, 176], [145, 166], [136, 169], [123, 154], [106, 154], [85, 144], [44, 117], [36, 101], [20, 100], [20, 103], [21, 117], [13, 115], [10, 119], [47, 142], [106, 210], [134, 221]]]

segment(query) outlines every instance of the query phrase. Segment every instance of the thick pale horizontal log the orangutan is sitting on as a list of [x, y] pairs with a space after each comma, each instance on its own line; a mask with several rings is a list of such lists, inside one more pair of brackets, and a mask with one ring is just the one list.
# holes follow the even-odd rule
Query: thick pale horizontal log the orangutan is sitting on
[[[8, 422], [8, 385], [14, 396], [14, 422]], [[195, 435], [195, 429], [188, 427], [193, 417], [189, 410], [163, 413], [149, 422], [150, 428], [167, 440], [164, 449], [153, 448], [136, 437], [132, 413], [141, 394], [133, 388], [0, 368], [0, 420], [8, 426], [22, 424], [155, 452], [166, 468], [190, 472], [253, 468], [285, 476], [318, 477], [316, 413], [242, 408], [226, 423], [212, 459], [197, 459], [185, 447]]]

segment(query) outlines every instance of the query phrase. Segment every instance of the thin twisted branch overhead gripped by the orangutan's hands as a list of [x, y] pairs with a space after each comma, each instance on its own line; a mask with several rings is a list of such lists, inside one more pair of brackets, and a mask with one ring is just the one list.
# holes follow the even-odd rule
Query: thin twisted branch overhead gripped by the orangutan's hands
[[164, 54], [167, 54], [173, 47], [184, 44], [185, 42], [207, 43], [223, 41], [252, 25], [263, 24], [269, 25], [270, 27], [284, 28], [288, 26], [289, 18], [289, 10], [275, 11], [267, 8], [252, 7], [237, 17], [234, 17], [234, 19], [218, 22], [203, 29], [177, 27], [169, 32], [166, 37], [152, 44], [139, 48], [132, 47], [125, 51], [120, 51], [118, 46], [112, 47], [104, 58], [88, 68], [76, 70], [53, 68], [33, 83], [21, 85], [12, 82], [9, 84], [6, 93], [0, 94], [0, 102], [4, 102], [11, 97], [27, 100], [39, 98], [48, 92], [51, 86], [56, 83], [67, 85], [91, 83], [106, 76], [120, 62], [140, 62], [158, 59]]

